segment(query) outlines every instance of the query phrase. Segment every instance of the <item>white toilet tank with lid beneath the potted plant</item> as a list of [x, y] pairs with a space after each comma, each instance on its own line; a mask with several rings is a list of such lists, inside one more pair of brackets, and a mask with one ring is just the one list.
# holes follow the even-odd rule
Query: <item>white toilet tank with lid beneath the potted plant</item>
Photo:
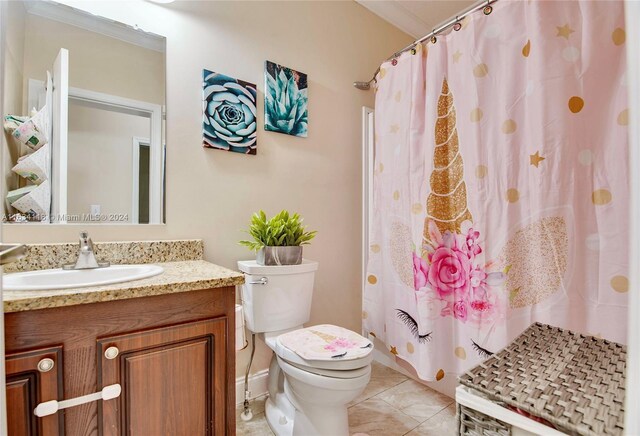
[[242, 260], [238, 268], [244, 273], [242, 305], [250, 331], [276, 332], [309, 321], [318, 262], [267, 266]]

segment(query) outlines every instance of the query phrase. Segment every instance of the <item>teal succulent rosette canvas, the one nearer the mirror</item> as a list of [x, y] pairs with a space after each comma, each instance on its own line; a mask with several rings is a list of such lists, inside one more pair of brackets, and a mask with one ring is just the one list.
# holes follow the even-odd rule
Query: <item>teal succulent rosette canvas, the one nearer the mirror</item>
[[256, 154], [256, 85], [202, 70], [202, 145]]

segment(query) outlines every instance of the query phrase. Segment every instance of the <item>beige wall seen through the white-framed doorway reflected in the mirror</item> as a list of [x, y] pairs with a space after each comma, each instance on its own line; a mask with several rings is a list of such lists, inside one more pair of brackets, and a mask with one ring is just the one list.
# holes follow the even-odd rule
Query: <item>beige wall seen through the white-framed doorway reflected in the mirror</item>
[[149, 138], [150, 127], [149, 118], [70, 102], [69, 214], [88, 215], [91, 205], [98, 204], [103, 215], [128, 214], [131, 219], [132, 140]]

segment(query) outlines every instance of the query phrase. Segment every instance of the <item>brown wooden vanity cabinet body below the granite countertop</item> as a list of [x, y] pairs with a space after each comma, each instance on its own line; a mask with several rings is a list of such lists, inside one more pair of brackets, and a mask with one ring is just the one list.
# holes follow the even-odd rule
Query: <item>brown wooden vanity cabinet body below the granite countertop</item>
[[[122, 388], [34, 419], [42, 399], [33, 399], [32, 372], [7, 371], [9, 414], [24, 417], [9, 436], [235, 434], [233, 287], [7, 313], [5, 336], [8, 370], [14, 356], [61, 344], [59, 400]], [[54, 419], [57, 430], [43, 433]]]

